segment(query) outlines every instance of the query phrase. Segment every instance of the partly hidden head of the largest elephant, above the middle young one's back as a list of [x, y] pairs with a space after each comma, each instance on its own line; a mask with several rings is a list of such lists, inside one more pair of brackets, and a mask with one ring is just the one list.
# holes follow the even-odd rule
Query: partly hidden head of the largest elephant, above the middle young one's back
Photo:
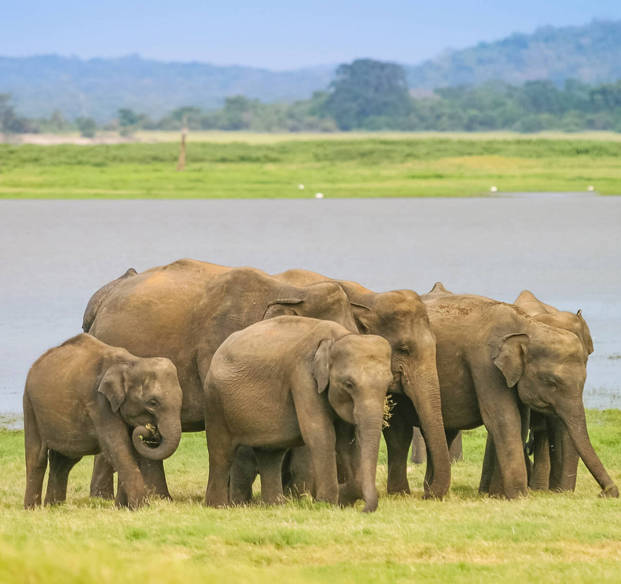
[[320, 282], [308, 286], [287, 286], [288, 298], [271, 300], [263, 320], [283, 315], [332, 320], [357, 333], [347, 294], [335, 282]]

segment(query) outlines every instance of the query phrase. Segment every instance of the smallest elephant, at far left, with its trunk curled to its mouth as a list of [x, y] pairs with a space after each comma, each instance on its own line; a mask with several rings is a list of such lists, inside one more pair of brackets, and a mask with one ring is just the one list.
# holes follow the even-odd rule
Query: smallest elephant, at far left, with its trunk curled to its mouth
[[41, 504], [48, 457], [46, 505], [64, 501], [70, 470], [99, 452], [119, 474], [117, 505], [145, 503], [150, 461], [179, 446], [182, 397], [169, 359], [141, 359], [86, 334], [47, 351], [24, 390], [24, 507]]

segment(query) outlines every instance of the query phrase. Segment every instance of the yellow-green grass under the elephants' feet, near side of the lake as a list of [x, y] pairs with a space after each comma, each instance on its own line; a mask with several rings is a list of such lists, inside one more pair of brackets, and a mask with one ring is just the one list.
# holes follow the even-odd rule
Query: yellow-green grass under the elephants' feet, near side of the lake
[[[621, 411], [589, 411], [602, 462], [621, 482]], [[166, 460], [174, 503], [119, 511], [88, 498], [91, 459], [73, 470], [68, 504], [24, 511], [21, 431], [0, 433], [0, 582], [365, 583], [515, 580], [601, 582], [621, 573], [621, 505], [597, 498], [584, 465], [576, 493], [531, 493], [517, 501], [477, 494], [485, 432], [465, 433], [447, 500], [423, 501], [424, 467], [409, 467], [412, 496], [386, 495], [386, 452], [378, 467], [379, 509], [361, 514], [302, 499], [277, 507], [202, 507], [204, 434], [184, 434]]]

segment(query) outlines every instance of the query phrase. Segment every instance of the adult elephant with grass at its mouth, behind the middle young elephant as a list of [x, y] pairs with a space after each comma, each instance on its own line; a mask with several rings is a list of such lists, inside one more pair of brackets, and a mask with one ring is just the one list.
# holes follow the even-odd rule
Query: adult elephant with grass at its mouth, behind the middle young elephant
[[[281, 272], [274, 277], [297, 285], [338, 282], [350, 300], [360, 333], [388, 340], [394, 376], [391, 393], [393, 398], [409, 402], [410, 408], [414, 404], [417, 421], [428, 444], [428, 464], [433, 472], [425, 482], [424, 496], [445, 496], [450, 486], [451, 464], [442, 421], [436, 338], [419, 295], [412, 290], [373, 292], [357, 282], [332, 280], [301, 269]], [[389, 453], [389, 463], [390, 456]], [[402, 491], [409, 492], [407, 481], [401, 487]]]

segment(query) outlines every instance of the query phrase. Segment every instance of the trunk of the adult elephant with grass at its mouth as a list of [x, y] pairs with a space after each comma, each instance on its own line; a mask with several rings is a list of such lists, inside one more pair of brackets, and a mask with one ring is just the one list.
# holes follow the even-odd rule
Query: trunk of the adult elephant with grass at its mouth
[[451, 460], [446, 444], [442, 403], [440, 402], [440, 381], [435, 366], [435, 343], [427, 358], [414, 369], [412, 377], [405, 372], [401, 385], [407, 397], [412, 400], [419, 416], [420, 429], [427, 444], [430, 465], [430, 482], [425, 484], [425, 498], [443, 498], [451, 483]]

